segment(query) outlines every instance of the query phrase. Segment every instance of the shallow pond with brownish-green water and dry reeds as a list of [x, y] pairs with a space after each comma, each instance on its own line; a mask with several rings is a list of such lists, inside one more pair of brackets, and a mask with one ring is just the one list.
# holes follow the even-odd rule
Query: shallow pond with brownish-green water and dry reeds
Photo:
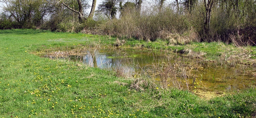
[[216, 96], [230, 90], [256, 87], [255, 70], [239, 64], [216, 66], [183, 54], [141, 49], [83, 50], [82, 55], [68, 52], [70, 50], [56, 51], [43, 57], [78, 61], [91, 67], [114, 70], [120, 75], [152, 78], [159, 83], [164, 81], [168, 87], [193, 90], [202, 97], [208, 96], [209, 92]]

